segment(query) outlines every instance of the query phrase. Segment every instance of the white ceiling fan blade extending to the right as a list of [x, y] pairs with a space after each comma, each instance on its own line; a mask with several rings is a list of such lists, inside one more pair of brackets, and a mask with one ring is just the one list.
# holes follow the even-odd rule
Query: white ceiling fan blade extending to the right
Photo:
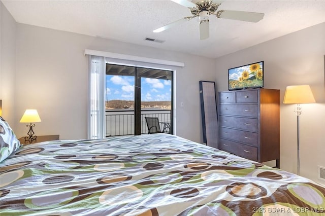
[[263, 19], [263, 13], [255, 13], [255, 12], [246, 12], [246, 11], [230, 11], [230, 10], [221, 10], [217, 12], [218, 18], [224, 19], [234, 19], [241, 20], [247, 22], [258, 22]]

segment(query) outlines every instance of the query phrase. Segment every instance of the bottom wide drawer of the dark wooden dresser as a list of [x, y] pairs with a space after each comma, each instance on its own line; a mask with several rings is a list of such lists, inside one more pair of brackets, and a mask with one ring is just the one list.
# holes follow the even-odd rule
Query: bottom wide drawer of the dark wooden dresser
[[257, 161], [257, 148], [226, 139], [219, 139], [218, 148], [243, 158]]

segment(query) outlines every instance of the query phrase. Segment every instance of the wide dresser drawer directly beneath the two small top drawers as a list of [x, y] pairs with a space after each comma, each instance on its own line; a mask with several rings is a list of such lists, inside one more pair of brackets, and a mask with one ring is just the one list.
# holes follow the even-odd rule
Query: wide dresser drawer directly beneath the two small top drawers
[[257, 118], [258, 106], [257, 104], [220, 104], [220, 115]]

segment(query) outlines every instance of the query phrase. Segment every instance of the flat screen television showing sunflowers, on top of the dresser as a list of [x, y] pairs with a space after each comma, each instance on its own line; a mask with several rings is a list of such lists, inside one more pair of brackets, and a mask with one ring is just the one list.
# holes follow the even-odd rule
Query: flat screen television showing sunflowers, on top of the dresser
[[264, 61], [228, 69], [228, 89], [264, 87]]

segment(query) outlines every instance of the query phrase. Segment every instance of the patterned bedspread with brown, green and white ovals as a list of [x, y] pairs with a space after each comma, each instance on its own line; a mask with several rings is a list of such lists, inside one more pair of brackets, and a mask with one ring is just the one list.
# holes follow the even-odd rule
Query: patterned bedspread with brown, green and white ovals
[[325, 188], [170, 134], [24, 146], [0, 163], [1, 215], [319, 215]]

